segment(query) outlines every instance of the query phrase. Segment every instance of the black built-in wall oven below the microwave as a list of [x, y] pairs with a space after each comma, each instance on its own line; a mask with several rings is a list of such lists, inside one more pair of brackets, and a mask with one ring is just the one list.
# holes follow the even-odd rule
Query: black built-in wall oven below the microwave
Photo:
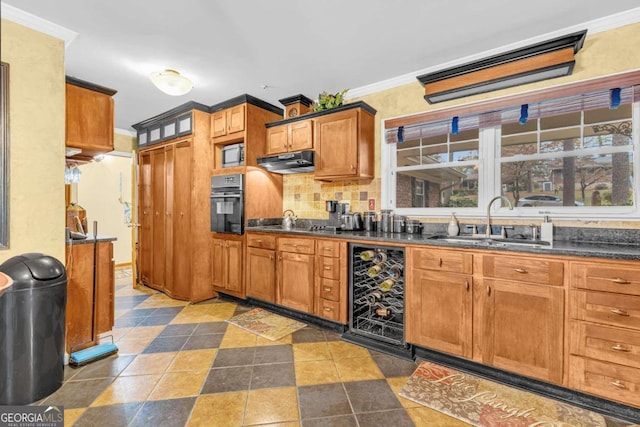
[[211, 231], [244, 233], [244, 179], [242, 174], [211, 177]]

